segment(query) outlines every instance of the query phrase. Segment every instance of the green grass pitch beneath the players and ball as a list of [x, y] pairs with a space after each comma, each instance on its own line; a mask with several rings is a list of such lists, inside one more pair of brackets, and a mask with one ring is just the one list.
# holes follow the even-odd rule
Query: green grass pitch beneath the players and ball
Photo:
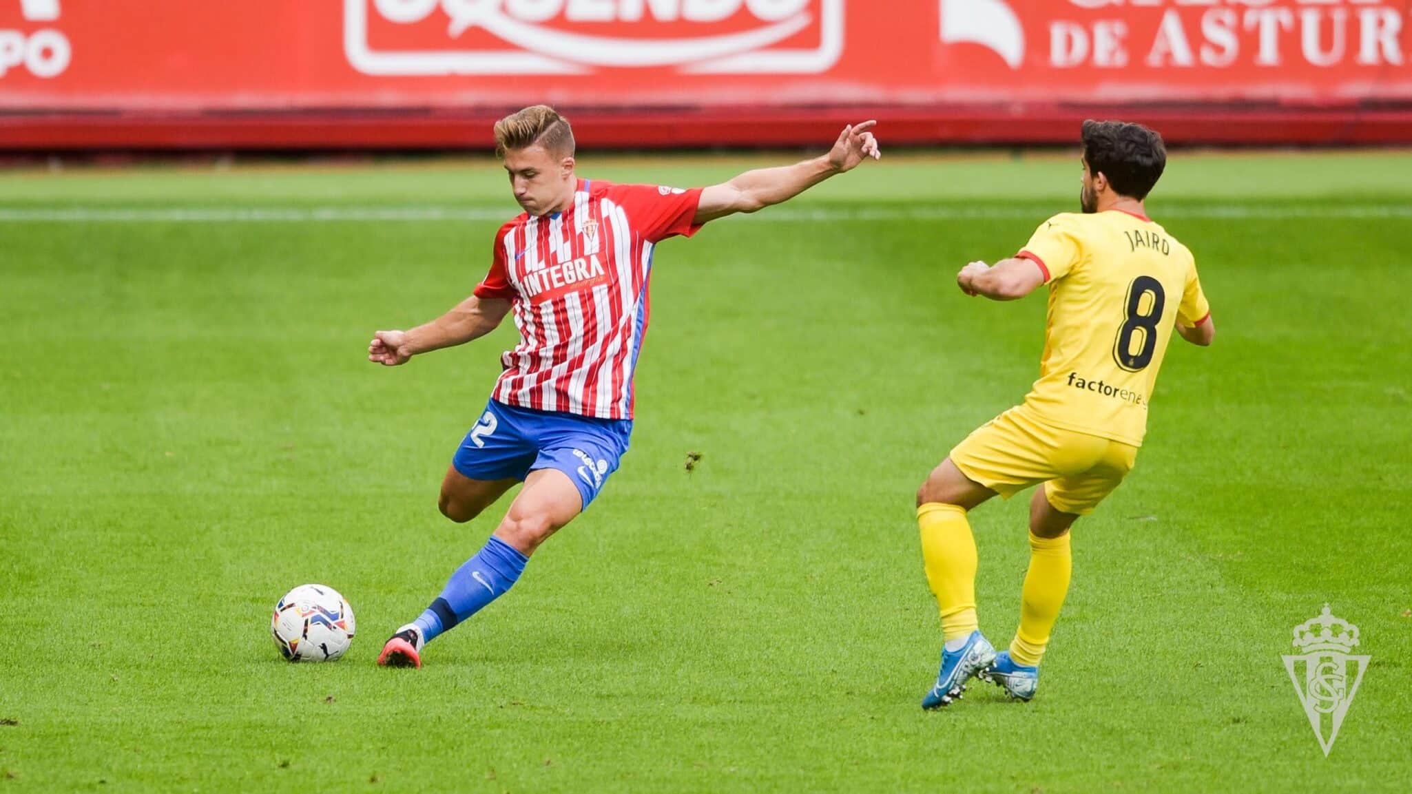
[[[363, 352], [481, 277], [496, 164], [0, 177], [0, 794], [1405, 791], [1408, 154], [1176, 153], [1149, 211], [1216, 346], [1173, 340], [1138, 468], [1077, 524], [1039, 697], [918, 708], [914, 493], [1024, 396], [1043, 324], [953, 275], [1077, 191], [1067, 154], [897, 155], [664, 244], [623, 469], [417, 672], [373, 660], [501, 513], [435, 499], [513, 328]], [[997, 644], [1024, 516], [973, 513]], [[337, 664], [268, 636], [304, 582], [356, 609]], [[1324, 602], [1372, 657], [1327, 759], [1281, 661]]]

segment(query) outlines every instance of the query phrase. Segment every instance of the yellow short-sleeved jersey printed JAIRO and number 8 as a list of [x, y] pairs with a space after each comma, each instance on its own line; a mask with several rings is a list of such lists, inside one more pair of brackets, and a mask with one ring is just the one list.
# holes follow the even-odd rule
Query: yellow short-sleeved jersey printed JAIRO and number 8
[[1151, 219], [1111, 209], [1056, 215], [1018, 256], [1049, 284], [1039, 380], [1022, 408], [1141, 446], [1176, 319], [1199, 325], [1210, 315], [1192, 251]]

